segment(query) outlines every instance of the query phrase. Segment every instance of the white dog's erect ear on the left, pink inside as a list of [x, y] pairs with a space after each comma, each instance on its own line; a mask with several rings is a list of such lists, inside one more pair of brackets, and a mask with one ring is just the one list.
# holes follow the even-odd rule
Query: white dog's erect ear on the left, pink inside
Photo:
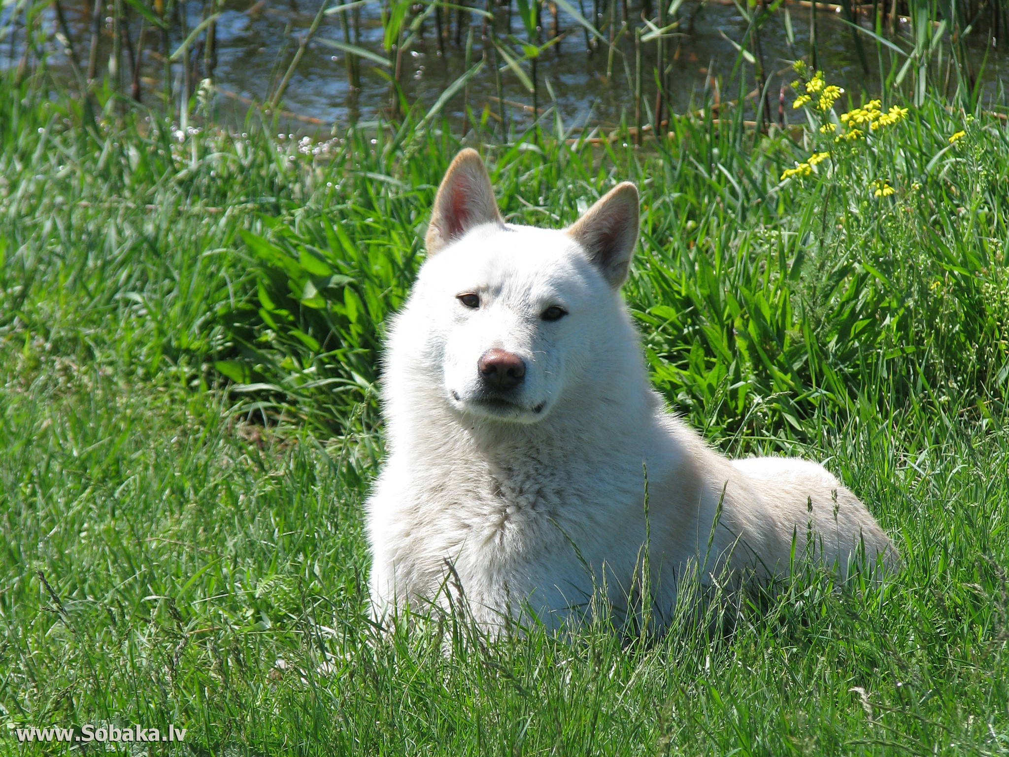
[[428, 255], [435, 254], [474, 226], [491, 222], [504, 223], [483, 160], [475, 149], [467, 147], [452, 160], [435, 196], [425, 239]]

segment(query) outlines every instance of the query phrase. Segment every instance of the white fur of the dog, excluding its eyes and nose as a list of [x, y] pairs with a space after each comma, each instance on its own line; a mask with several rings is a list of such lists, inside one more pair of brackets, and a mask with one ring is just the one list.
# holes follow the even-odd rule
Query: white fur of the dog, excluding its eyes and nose
[[[453, 161], [385, 352], [389, 455], [367, 504], [379, 618], [446, 607], [455, 590], [487, 630], [523, 608], [557, 627], [603, 583], [628, 609], [646, 529], [660, 619], [685, 571], [782, 576], [793, 538], [801, 555], [810, 533], [828, 566], [845, 570], [860, 545], [898, 563], [819, 464], [728, 460], [664, 412], [619, 294], [637, 234], [631, 184], [546, 230], [503, 223], [475, 151]], [[567, 315], [544, 320], [550, 306]], [[481, 402], [476, 366], [491, 348], [526, 361], [512, 405]]]

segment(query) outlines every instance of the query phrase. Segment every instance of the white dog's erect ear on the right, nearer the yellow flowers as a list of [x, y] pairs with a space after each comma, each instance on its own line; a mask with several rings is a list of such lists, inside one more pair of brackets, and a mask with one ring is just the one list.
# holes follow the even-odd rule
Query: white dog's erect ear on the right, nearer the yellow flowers
[[631, 255], [638, 243], [638, 189], [631, 182], [613, 187], [568, 227], [613, 289], [628, 278]]

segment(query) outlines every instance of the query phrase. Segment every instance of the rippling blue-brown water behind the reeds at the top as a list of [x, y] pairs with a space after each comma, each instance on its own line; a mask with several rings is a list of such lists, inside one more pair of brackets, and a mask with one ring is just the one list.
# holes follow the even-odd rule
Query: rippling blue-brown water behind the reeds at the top
[[[240, 114], [250, 102], [263, 102], [271, 88], [283, 76], [288, 62], [298, 45], [300, 35], [311, 25], [321, 0], [294, 0], [290, 2], [251, 2], [250, 0], [228, 0], [223, 3], [221, 15], [217, 21], [217, 66], [214, 70], [214, 82], [219, 88], [215, 104], [219, 113]], [[584, 1], [584, 0], [583, 0]], [[574, 3], [576, 4], [576, 2]], [[185, 4], [187, 26], [194, 28], [201, 20], [203, 3], [193, 0]], [[358, 43], [377, 55], [388, 58], [382, 49], [383, 28], [380, 18], [380, 3], [368, 0], [359, 9]], [[586, 9], [591, 8], [590, 2], [585, 2]], [[78, 56], [87, 59], [90, 40], [91, 10], [85, 3], [67, 3], [67, 16], [75, 35]], [[632, 5], [632, 20], [637, 7]], [[786, 35], [786, 12], [790, 14], [794, 28], [794, 44], [789, 44]], [[0, 16], [0, 27], [10, 26], [10, 10], [4, 11], [6, 16]], [[518, 13], [509, 14], [503, 9], [495, 11], [498, 38], [503, 36], [508, 17], [511, 15], [511, 33], [516, 39], [525, 38], [525, 30]], [[46, 11], [43, 28], [54, 28], [54, 14]], [[761, 44], [764, 51], [764, 66], [770, 82], [769, 97], [771, 102], [771, 117], [778, 117], [778, 99], [782, 85], [794, 79], [788, 62], [796, 58], [808, 56], [808, 8], [798, 5], [785, 5], [775, 13], [774, 17], [761, 29]], [[615, 45], [610, 56], [604, 44], [600, 44], [593, 53], [588, 53], [585, 47], [585, 37], [580, 26], [571, 17], [560, 13], [560, 29], [567, 34], [562, 41], [544, 52], [538, 60], [539, 105], [541, 111], [555, 106], [565, 126], [613, 126], [623, 120], [633, 124], [635, 120], [635, 87], [634, 87], [634, 45], [630, 34], [625, 34]], [[685, 112], [691, 108], [700, 107], [704, 100], [705, 88], [709, 92], [717, 90], [717, 97], [723, 101], [736, 100], [740, 94], [740, 74], [745, 76], [745, 94], [751, 93], [748, 100], [748, 111], [754, 112], [756, 98], [753, 97], [754, 74], [753, 67], [741, 65], [739, 52], [733, 41], [747, 45], [748, 23], [734, 5], [705, 3], [683, 3], [680, 7], [680, 27], [674, 36], [667, 39], [669, 64], [671, 66], [671, 81], [674, 83], [670, 92], [672, 107], [675, 112]], [[171, 47], [174, 50], [182, 41], [181, 24], [176, 19]], [[435, 35], [433, 17], [425, 24], [424, 34], [417, 39], [411, 49], [404, 56], [401, 76], [407, 100], [415, 104], [420, 114], [427, 112], [445, 91], [445, 89], [465, 71], [464, 45], [468, 28], [473, 30], [472, 61], [476, 63], [483, 58], [481, 46], [481, 30], [483, 19], [473, 14], [470, 24], [463, 24], [461, 32], [462, 44], [455, 44], [455, 13], [451, 14], [451, 33], [445, 44], [445, 55], [439, 52]], [[544, 10], [542, 23], [543, 39], [550, 38], [553, 21], [550, 13]], [[859, 99], [860, 88], [864, 87], [867, 95], [876, 96], [880, 92], [879, 78], [880, 62], [877, 57], [877, 45], [868, 36], [863, 36], [863, 44], [869, 59], [868, 74], [863, 70], [853, 41], [853, 28], [845, 24], [839, 16], [831, 11], [819, 9], [817, 12], [818, 41], [817, 55], [819, 67], [827, 74], [827, 80], [844, 86]], [[619, 24], [618, 24], [619, 25]], [[904, 25], [904, 24], [902, 24]], [[290, 33], [285, 31], [290, 27]], [[111, 19], [104, 23], [105, 34], [101, 46], [103, 66], [107, 61], [111, 44]], [[137, 33], [137, 23], [134, 19], [133, 35]], [[898, 29], [898, 35], [906, 36], [907, 29]], [[23, 32], [21, 37], [23, 37]], [[633, 32], [632, 32], [633, 33]], [[603, 34], [607, 34], [603, 31]], [[0, 56], [0, 66], [9, 68], [16, 66], [23, 48], [14, 39], [10, 44], [10, 35], [3, 44], [4, 55]], [[390, 69], [379, 67], [365, 60], [360, 60], [361, 88], [355, 90], [347, 79], [343, 61], [343, 52], [333, 49], [324, 43], [324, 39], [344, 39], [339, 18], [336, 15], [324, 17], [317, 32], [317, 37], [308, 45], [298, 70], [294, 74], [284, 95], [284, 107], [294, 120], [303, 123], [320, 125], [346, 125], [358, 120], [372, 120], [386, 117], [389, 114], [389, 85], [379, 72], [386, 75]], [[970, 38], [969, 38], [970, 39]], [[732, 40], [732, 41], [731, 41]], [[972, 57], [975, 67], [980, 64], [986, 40], [977, 34], [971, 39]], [[51, 49], [59, 45], [52, 42]], [[905, 44], [909, 47], [909, 44]], [[141, 96], [145, 102], [158, 102], [162, 86], [160, 77], [163, 74], [162, 42], [159, 34], [147, 33], [145, 50], [142, 55], [142, 86]], [[516, 44], [509, 46], [515, 53]], [[885, 49], [885, 48], [884, 48]], [[489, 55], [489, 53], [488, 53]], [[518, 55], [521, 55], [518, 53]], [[643, 44], [644, 100], [649, 107], [655, 103], [655, 66], [656, 45], [654, 42]], [[474, 78], [468, 88], [468, 99], [464, 93], [457, 94], [445, 107], [444, 112], [450, 116], [454, 124], [461, 127], [466, 105], [469, 106], [475, 118], [484, 113], [491, 121], [500, 115], [501, 106], [497, 101], [497, 89], [493, 72], [488, 65], [479, 76]], [[519, 78], [502, 64], [501, 83], [504, 100], [507, 101], [507, 117], [513, 127], [521, 129], [532, 122], [533, 96], [523, 87]], [[901, 62], [898, 62], [898, 66]], [[86, 60], [83, 65], [86, 65]], [[200, 57], [199, 65], [202, 65]], [[1001, 97], [1002, 81], [1005, 72], [1006, 57], [1004, 48], [997, 48], [988, 58], [982, 77], [984, 97], [995, 100]], [[69, 67], [66, 59], [57, 55], [50, 59], [50, 66], [64, 73], [68, 81]], [[522, 64], [529, 75], [531, 67], [528, 62]], [[888, 52], [884, 56], [883, 67], [890, 69], [891, 62]], [[944, 64], [943, 64], [944, 67]], [[937, 68], [937, 67], [936, 67]], [[181, 66], [174, 68], [174, 76], [181, 80]], [[938, 80], [942, 81], [943, 71], [937, 72]], [[195, 78], [203, 76], [197, 72]], [[910, 80], [908, 80], [909, 83]], [[181, 84], [177, 81], [178, 85]], [[552, 93], [552, 95], [551, 95]], [[791, 95], [786, 94], [785, 116], [793, 120], [797, 114], [790, 107]], [[643, 121], [648, 122], [647, 111], [643, 112]], [[550, 123], [554, 114], [550, 116]]]

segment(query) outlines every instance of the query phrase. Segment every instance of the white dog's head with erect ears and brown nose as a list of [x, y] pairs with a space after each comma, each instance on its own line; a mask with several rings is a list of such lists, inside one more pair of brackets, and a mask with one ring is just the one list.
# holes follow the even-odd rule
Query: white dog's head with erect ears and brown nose
[[414, 291], [431, 316], [431, 333], [415, 338], [435, 345], [445, 401], [465, 415], [537, 423], [598, 380], [614, 341], [628, 346], [619, 290], [637, 238], [630, 183], [566, 229], [516, 226], [501, 219], [479, 155], [460, 152], [435, 198]]

